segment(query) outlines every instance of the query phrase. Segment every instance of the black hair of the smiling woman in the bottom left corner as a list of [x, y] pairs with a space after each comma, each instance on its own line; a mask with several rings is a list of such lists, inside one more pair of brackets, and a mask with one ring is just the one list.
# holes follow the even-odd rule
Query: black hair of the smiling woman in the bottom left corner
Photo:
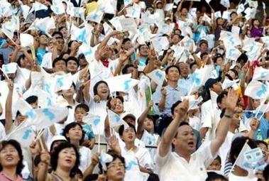
[[[1, 150], [3, 150], [4, 148], [6, 148], [6, 146], [11, 145], [13, 146], [17, 152], [18, 152], [18, 157], [20, 158], [20, 160], [18, 160], [18, 164], [16, 167], [16, 174], [21, 175], [21, 170], [23, 170], [24, 165], [23, 165], [23, 151], [21, 150], [21, 145], [20, 143], [18, 143], [18, 141], [16, 140], [9, 140], [9, 141], [2, 141], [2, 148]], [[0, 152], [1, 152], [0, 150]], [[3, 170], [3, 166], [0, 163], [0, 171]]]

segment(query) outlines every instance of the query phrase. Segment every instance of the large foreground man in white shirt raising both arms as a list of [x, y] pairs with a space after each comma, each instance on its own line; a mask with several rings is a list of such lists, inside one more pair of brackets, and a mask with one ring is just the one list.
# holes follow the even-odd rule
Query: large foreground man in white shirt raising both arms
[[[160, 180], [205, 180], [207, 178], [206, 168], [212, 163], [225, 140], [237, 100], [236, 92], [233, 89], [229, 90], [226, 97], [226, 111], [219, 123], [216, 138], [204, 143], [193, 154], [196, 142], [194, 131], [189, 124], [185, 122], [180, 124], [187, 114], [189, 102], [184, 100], [175, 108], [175, 117], [165, 131], [155, 156]], [[171, 144], [175, 147], [174, 152]]]

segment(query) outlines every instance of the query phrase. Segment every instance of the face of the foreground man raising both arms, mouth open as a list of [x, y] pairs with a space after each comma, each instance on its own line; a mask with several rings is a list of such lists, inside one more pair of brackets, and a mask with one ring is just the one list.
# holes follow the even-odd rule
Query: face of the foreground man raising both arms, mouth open
[[177, 128], [177, 136], [172, 139], [176, 153], [192, 153], [196, 148], [196, 137], [191, 126], [183, 125]]

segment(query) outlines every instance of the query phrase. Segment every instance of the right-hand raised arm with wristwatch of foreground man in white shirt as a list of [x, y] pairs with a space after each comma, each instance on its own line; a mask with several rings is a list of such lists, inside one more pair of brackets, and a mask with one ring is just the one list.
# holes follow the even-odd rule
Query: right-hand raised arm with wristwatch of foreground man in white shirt
[[225, 114], [221, 118], [221, 121], [219, 121], [218, 127], [216, 128], [216, 138], [212, 140], [210, 145], [212, 155], [216, 155], [218, 153], [219, 147], [221, 147], [222, 143], [225, 141], [229, 127], [231, 125], [231, 119], [234, 116], [234, 110], [236, 109], [237, 101], [238, 94], [234, 89], [229, 89], [225, 101]]

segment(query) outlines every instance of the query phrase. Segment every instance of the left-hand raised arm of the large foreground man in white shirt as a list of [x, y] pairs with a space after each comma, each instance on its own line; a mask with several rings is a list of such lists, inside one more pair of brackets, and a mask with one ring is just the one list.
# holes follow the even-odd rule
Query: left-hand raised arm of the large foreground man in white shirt
[[163, 140], [160, 141], [159, 154], [161, 157], [165, 157], [165, 155], [168, 154], [172, 144], [172, 139], [175, 137], [175, 133], [177, 133], [178, 126], [180, 126], [180, 121], [182, 117], [187, 114], [187, 110], [189, 109], [189, 101], [184, 100], [182, 103], [177, 105], [176, 109], [179, 111], [175, 112], [175, 118], [166, 129]]

